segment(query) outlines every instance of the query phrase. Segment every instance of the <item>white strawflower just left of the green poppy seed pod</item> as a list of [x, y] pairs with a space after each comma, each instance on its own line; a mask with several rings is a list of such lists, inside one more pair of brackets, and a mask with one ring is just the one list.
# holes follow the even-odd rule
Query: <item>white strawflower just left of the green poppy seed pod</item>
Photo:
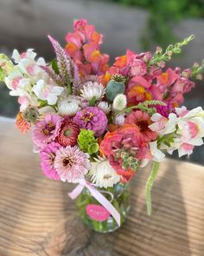
[[102, 83], [86, 82], [80, 92], [81, 97], [85, 98], [87, 101], [92, 100], [93, 97], [99, 100], [105, 95], [105, 87]]

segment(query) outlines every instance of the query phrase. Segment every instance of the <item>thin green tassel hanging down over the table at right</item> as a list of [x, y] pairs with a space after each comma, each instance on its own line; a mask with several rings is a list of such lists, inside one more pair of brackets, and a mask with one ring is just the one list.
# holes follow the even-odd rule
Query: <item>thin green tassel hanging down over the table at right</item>
[[159, 169], [159, 162], [153, 161], [150, 177], [146, 183], [146, 190], [145, 190], [145, 198], [146, 198], [146, 207], [148, 215], [151, 214], [151, 187], [153, 182], [156, 179], [156, 174], [158, 173]]

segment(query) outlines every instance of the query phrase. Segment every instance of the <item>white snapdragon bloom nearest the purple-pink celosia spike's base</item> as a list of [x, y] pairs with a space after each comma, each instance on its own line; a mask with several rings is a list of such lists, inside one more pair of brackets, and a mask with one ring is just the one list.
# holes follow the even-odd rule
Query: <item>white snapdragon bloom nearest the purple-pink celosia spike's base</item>
[[49, 105], [54, 105], [57, 102], [57, 96], [61, 95], [64, 89], [60, 86], [46, 84], [44, 80], [39, 80], [33, 87], [35, 95], [42, 101], [48, 101]]

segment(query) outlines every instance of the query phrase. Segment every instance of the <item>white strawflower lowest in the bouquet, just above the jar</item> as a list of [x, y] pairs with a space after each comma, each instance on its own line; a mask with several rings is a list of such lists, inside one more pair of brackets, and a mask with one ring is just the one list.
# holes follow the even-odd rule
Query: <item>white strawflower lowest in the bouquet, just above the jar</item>
[[109, 161], [101, 157], [94, 158], [89, 174], [92, 182], [99, 187], [113, 187], [120, 181], [120, 175], [111, 167]]

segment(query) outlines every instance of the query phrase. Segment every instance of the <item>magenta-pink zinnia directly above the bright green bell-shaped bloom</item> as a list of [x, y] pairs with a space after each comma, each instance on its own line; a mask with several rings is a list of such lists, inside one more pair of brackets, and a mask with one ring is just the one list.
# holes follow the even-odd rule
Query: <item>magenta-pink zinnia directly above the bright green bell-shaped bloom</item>
[[108, 120], [104, 111], [100, 108], [87, 107], [77, 112], [73, 117], [73, 122], [77, 123], [80, 128], [92, 130], [98, 137], [105, 132]]

